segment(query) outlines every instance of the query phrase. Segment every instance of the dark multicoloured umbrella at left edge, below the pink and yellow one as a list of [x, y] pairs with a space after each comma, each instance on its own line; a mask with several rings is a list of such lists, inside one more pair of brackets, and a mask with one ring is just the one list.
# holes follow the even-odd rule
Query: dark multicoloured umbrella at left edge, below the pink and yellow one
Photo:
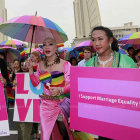
[[7, 62], [13, 62], [14, 59], [18, 59], [20, 57], [20, 52], [11, 47], [2, 47], [0, 48], [0, 52], [5, 53]]

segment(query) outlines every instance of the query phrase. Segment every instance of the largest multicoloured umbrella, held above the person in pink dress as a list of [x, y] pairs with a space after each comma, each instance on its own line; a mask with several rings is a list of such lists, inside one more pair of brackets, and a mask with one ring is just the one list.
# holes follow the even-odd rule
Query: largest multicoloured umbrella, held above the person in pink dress
[[68, 40], [66, 33], [54, 22], [41, 16], [21, 16], [0, 25], [0, 32], [25, 42], [42, 44], [46, 37], [57, 43]]

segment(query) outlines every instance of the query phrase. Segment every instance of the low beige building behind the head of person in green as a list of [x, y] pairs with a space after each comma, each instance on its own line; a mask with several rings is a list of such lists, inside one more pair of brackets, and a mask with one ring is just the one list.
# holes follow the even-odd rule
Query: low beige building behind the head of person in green
[[110, 27], [113, 32], [113, 35], [116, 39], [122, 38], [125, 35], [130, 33], [135, 33], [140, 31], [140, 27], [138, 25], [133, 25], [133, 22], [125, 23], [121, 27]]

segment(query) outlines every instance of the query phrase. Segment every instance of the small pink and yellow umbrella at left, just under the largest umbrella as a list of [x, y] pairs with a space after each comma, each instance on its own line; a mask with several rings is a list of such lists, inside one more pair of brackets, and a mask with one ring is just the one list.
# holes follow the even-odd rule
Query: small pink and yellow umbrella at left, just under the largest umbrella
[[22, 46], [22, 43], [16, 40], [5, 40], [0, 43], [0, 47], [4, 46], [11, 46], [13, 48], [16, 48], [17, 46]]

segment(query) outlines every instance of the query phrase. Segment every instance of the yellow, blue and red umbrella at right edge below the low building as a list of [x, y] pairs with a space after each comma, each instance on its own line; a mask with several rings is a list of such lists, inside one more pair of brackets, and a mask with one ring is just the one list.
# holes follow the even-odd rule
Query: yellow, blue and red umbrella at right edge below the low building
[[134, 45], [140, 44], [140, 32], [128, 34], [120, 38], [118, 41], [121, 44], [134, 44]]

